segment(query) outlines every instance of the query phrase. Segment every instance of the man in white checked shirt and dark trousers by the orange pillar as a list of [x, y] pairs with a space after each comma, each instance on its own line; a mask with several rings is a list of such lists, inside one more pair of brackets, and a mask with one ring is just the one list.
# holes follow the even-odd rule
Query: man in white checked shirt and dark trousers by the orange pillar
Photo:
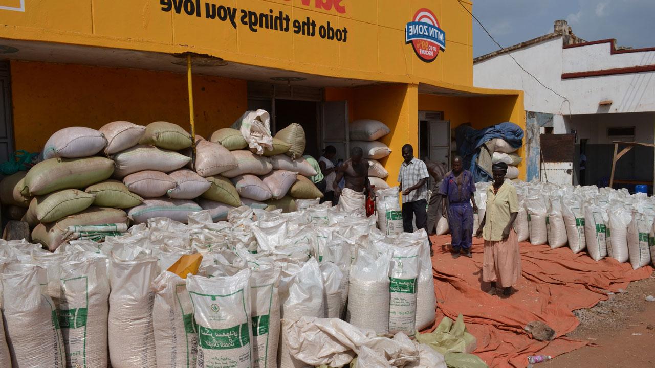
[[398, 183], [400, 183], [398, 191], [403, 194], [403, 230], [413, 232], [413, 221], [416, 216], [416, 227], [427, 232], [430, 254], [432, 254], [428, 215], [425, 212], [428, 206], [428, 168], [425, 162], [414, 157], [414, 147], [411, 145], [403, 145], [402, 155], [405, 160], [400, 164], [400, 172], [398, 172]]

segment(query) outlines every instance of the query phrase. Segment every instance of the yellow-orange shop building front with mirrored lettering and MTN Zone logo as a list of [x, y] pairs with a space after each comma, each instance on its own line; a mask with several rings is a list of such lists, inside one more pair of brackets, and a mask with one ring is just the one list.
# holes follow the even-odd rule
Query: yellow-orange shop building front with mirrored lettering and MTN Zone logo
[[[271, 106], [280, 123], [293, 107], [278, 101], [310, 101], [316, 119], [307, 124], [316, 128], [308, 145], [320, 146], [335, 126], [326, 104], [343, 101], [346, 120], [381, 120], [392, 130], [381, 139], [392, 149], [382, 162], [388, 183], [396, 185], [402, 145], [425, 145], [421, 111], [438, 113], [450, 130], [465, 123], [525, 126], [520, 91], [472, 86], [472, 6], [465, 0], [0, 0], [14, 147], [39, 151], [56, 130], [113, 120], [187, 126], [179, 55], [191, 52], [200, 136], [230, 126], [255, 101]], [[525, 167], [519, 171], [524, 178]]]

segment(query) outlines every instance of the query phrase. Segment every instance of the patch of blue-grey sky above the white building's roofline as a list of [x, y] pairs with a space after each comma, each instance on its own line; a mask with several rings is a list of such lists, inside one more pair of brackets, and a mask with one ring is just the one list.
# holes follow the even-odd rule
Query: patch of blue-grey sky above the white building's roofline
[[[586, 41], [655, 47], [655, 0], [474, 0], [473, 14], [504, 47], [551, 33], [558, 19]], [[498, 50], [475, 20], [473, 48], [476, 57]]]

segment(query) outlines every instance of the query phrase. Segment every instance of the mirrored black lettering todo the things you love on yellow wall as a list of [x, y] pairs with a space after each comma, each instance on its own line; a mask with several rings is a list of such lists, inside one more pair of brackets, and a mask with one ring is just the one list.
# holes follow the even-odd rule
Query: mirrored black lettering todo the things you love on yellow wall
[[[348, 28], [337, 28], [327, 21], [326, 24], [316, 24], [309, 16], [305, 19], [293, 19], [282, 10], [273, 12], [255, 12], [234, 7], [216, 5], [210, 1], [200, 0], [160, 0], [161, 10], [164, 12], [176, 12], [197, 18], [208, 20], [219, 20], [230, 22], [234, 29], [238, 24], [247, 26], [251, 32], [256, 33], [259, 29], [271, 29], [280, 32], [290, 32], [308, 37], [318, 37], [330, 41], [348, 42]], [[336, 1], [338, 3], [338, 1]], [[318, 3], [317, 3], [318, 4]]]

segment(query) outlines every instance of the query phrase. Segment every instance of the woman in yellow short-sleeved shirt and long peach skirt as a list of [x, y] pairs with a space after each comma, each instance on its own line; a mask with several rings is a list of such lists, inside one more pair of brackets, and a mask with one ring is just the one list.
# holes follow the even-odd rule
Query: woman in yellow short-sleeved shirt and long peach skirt
[[491, 295], [502, 287], [506, 297], [521, 276], [521, 253], [514, 231], [514, 220], [519, 213], [516, 189], [505, 179], [507, 164], [498, 162], [493, 168], [493, 184], [487, 188], [487, 211], [476, 236], [485, 239], [482, 280], [491, 282]]

